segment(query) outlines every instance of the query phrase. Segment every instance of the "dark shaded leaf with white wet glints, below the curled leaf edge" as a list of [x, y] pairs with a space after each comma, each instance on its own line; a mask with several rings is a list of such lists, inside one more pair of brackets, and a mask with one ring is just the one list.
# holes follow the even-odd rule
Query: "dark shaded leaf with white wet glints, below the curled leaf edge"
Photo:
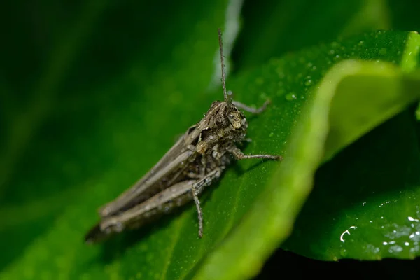
[[321, 167], [284, 247], [321, 260], [419, 255], [418, 133], [405, 111]]

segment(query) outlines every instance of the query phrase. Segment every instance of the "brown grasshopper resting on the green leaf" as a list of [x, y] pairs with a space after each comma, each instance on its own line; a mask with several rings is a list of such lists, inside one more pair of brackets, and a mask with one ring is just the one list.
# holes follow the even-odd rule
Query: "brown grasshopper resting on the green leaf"
[[85, 237], [87, 243], [101, 241], [127, 228], [138, 228], [158, 216], [194, 200], [198, 213], [198, 235], [203, 235], [203, 214], [198, 196], [237, 160], [261, 158], [281, 160], [279, 155], [244, 155], [236, 146], [245, 141], [248, 123], [238, 108], [261, 113], [269, 102], [254, 109], [232, 101], [226, 92], [225, 64], [221, 29], [218, 29], [221, 52], [223, 101], [215, 101], [199, 123], [169, 149], [159, 162], [134, 186], [99, 209], [101, 221]]

